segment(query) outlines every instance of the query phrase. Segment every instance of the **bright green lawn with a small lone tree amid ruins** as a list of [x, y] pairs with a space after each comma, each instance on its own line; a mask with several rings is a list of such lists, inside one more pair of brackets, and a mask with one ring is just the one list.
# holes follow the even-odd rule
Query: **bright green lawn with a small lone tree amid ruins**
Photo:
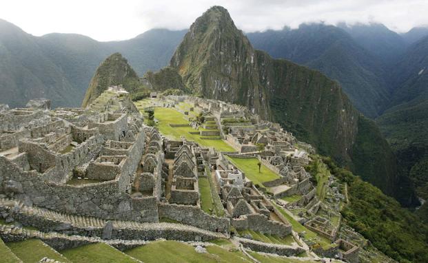
[[241, 171], [245, 173], [245, 176], [252, 180], [254, 185], [259, 185], [263, 187], [263, 182], [269, 182], [275, 179], [280, 178], [278, 174], [274, 173], [271, 169], [265, 167], [265, 165], [261, 166], [261, 172], [258, 172], [258, 160], [257, 158], [252, 159], [241, 159], [241, 158], [231, 158], [227, 156], [227, 158], [232, 161], [234, 165]]

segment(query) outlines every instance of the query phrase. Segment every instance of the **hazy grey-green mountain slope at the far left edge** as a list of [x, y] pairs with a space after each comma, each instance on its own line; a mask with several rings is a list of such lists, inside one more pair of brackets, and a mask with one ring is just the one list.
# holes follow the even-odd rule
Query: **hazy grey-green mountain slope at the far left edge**
[[34, 37], [0, 20], [0, 102], [23, 106], [30, 98], [47, 97], [52, 105], [76, 105], [76, 89], [63, 70], [43, 54]]

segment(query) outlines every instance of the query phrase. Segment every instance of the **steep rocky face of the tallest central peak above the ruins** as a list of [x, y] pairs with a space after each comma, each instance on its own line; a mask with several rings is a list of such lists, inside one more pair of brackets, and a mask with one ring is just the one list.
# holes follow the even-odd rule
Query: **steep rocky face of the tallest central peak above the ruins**
[[269, 118], [256, 54], [224, 8], [215, 6], [190, 27], [171, 59], [196, 95], [247, 105]]

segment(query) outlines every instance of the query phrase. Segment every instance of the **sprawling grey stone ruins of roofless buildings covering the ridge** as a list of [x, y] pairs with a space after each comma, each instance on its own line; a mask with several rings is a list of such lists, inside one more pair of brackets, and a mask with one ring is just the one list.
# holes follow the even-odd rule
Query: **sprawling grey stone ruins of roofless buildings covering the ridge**
[[[263, 183], [278, 190], [273, 198], [300, 194], [301, 204], [316, 200], [303, 168], [310, 145], [296, 149], [300, 142], [292, 134], [243, 106], [185, 96], [169, 96], [161, 106], [174, 107], [186, 100], [216, 123], [210, 124], [218, 127], [216, 136], [227, 140], [235, 155], [259, 157], [280, 176]], [[0, 120], [0, 215], [54, 231], [49, 238], [55, 240], [52, 246], [71, 244], [70, 233], [77, 233], [83, 243], [99, 237], [121, 240], [124, 246], [127, 240], [229, 238], [231, 227], [280, 237], [292, 233], [291, 224], [266, 193], [225, 158], [227, 153], [185, 138], [167, 139], [144, 125], [121, 87], [110, 87], [87, 108], [50, 109], [43, 99], [26, 108], [3, 106]], [[223, 216], [201, 209], [198, 180], [210, 176], [212, 198], [218, 198]], [[165, 219], [176, 223], [160, 222]], [[48, 239], [7, 227], [0, 234], [6, 240]], [[239, 240], [256, 251], [274, 249], [284, 255], [303, 251], [300, 246]], [[345, 248], [345, 242], [338, 246]]]

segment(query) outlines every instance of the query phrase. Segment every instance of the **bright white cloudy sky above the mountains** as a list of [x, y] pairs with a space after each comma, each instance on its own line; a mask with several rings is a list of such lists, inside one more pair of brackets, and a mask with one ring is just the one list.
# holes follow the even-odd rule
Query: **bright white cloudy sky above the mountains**
[[0, 19], [36, 36], [78, 33], [110, 41], [151, 28], [189, 28], [214, 5], [227, 8], [245, 32], [319, 21], [378, 22], [396, 32], [428, 25], [428, 0], [1, 0]]

